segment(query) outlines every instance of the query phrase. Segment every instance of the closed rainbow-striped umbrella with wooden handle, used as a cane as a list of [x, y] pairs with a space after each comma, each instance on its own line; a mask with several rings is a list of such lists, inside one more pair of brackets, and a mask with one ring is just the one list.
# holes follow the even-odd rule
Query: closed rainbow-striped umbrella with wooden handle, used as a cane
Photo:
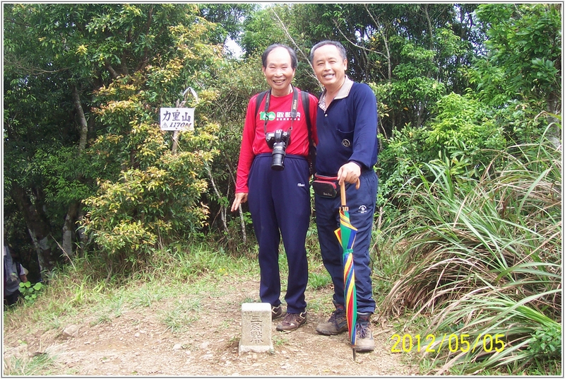
[[[356, 188], [359, 188], [357, 180]], [[335, 230], [338, 241], [343, 248], [343, 290], [345, 295], [345, 317], [347, 318], [347, 330], [353, 360], [355, 361], [355, 325], [357, 324], [357, 291], [355, 290], [355, 266], [353, 264], [353, 244], [357, 228], [351, 225], [349, 217], [349, 207], [345, 205], [345, 183], [341, 185], [341, 206], [340, 206], [340, 227]]]

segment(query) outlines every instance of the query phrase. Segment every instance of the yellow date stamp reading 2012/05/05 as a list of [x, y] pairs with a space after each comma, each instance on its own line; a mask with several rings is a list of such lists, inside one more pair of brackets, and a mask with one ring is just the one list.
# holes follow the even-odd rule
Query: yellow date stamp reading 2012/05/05
[[412, 350], [425, 351], [427, 353], [439, 353], [441, 349], [449, 349], [451, 353], [461, 351], [475, 352], [476, 349], [482, 349], [487, 353], [491, 351], [504, 351], [504, 341], [501, 339], [504, 334], [479, 334], [477, 338], [471, 338], [469, 334], [447, 334], [439, 335], [427, 334], [425, 338], [416, 334], [393, 334], [391, 340], [394, 341], [391, 347], [393, 353], [409, 353]]

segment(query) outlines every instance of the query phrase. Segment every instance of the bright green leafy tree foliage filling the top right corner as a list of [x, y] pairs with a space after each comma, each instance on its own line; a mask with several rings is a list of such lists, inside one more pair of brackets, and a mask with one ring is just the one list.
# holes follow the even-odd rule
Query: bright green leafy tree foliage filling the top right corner
[[561, 103], [561, 7], [557, 4], [477, 9], [487, 54], [475, 66], [477, 93], [489, 105], [509, 98], [555, 112]]

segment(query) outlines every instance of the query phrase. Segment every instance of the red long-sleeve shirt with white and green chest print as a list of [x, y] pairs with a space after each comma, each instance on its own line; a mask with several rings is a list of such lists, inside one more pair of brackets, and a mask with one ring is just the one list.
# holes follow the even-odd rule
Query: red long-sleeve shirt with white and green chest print
[[[295, 91], [298, 88], [295, 87]], [[304, 95], [302, 93], [301, 95]], [[266, 98], [263, 98], [261, 104], [257, 107], [255, 112], [255, 102], [257, 95], [254, 95], [249, 100], [247, 105], [247, 113], [245, 117], [245, 124], [243, 127], [242, 147], [239, 151], [239, 164], [237, 165], [237, 181], [235, 185], [235, 192], [249, 192], [247, 187], [247, 177], [251, 164], [256, 155], [261, 153], [271, 153], [273, 150], [269, 148], [265, 141], [265, 129], [263, 125], [265, 121], [260, 119], [261, 112], [265, 110]], [[311, 133], [312, 139], [316, 144], [318, 143], [318, 134], [316, 132], [316, 108], [318, 107], [318, 99], [316, 96], [309, 94], [309, 113], [311, 120]], [[275, 132], [277, 129], [287, 131], [290, 128], [290, 110], [292, 107], [292, 92], [289, 95], [282, 97], [270, 96], [270, 103], [268, 112], [275, 113], [275, 119], [267, 122], [267, 132]], [[302, 107], [302, 100], [299, 100], [297, 106], [297, 117], [295, 122], [292, 123], [292, 132], [290, 133], [290, 144], [287, 146], [286, 153], [290, 155], [309, 156], [309, 139], [308, 139], [308, 126], [304, 118], [304, 108]]]

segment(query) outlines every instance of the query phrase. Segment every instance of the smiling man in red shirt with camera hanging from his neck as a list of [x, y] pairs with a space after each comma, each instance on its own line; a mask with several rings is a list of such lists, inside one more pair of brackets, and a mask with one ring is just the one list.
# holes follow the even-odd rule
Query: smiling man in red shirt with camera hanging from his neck
[[[290, 47], [269, 46], [263, 53], [262, 64], [270, 91], [258, 104], [261, 112], [256, 112], [258, 95], [247, 106], [232, 211], [249, 201], [259, 245], [259, 296], [263, 303], [270, 303], [273, 319], [283, 315], [278, 264], [282, 235], [288, 261], [287, 314], [277, 330], [295, 330], [307, 317], [304, 291], [308, 262], [304, 245], [311, 210], [306, 120], [311, 119], [310, 134], [317, 141], [318, 99], [292, 86], [297, 57]], [[302, 107], [303, 95], [308, 96], [309, 115]]]

